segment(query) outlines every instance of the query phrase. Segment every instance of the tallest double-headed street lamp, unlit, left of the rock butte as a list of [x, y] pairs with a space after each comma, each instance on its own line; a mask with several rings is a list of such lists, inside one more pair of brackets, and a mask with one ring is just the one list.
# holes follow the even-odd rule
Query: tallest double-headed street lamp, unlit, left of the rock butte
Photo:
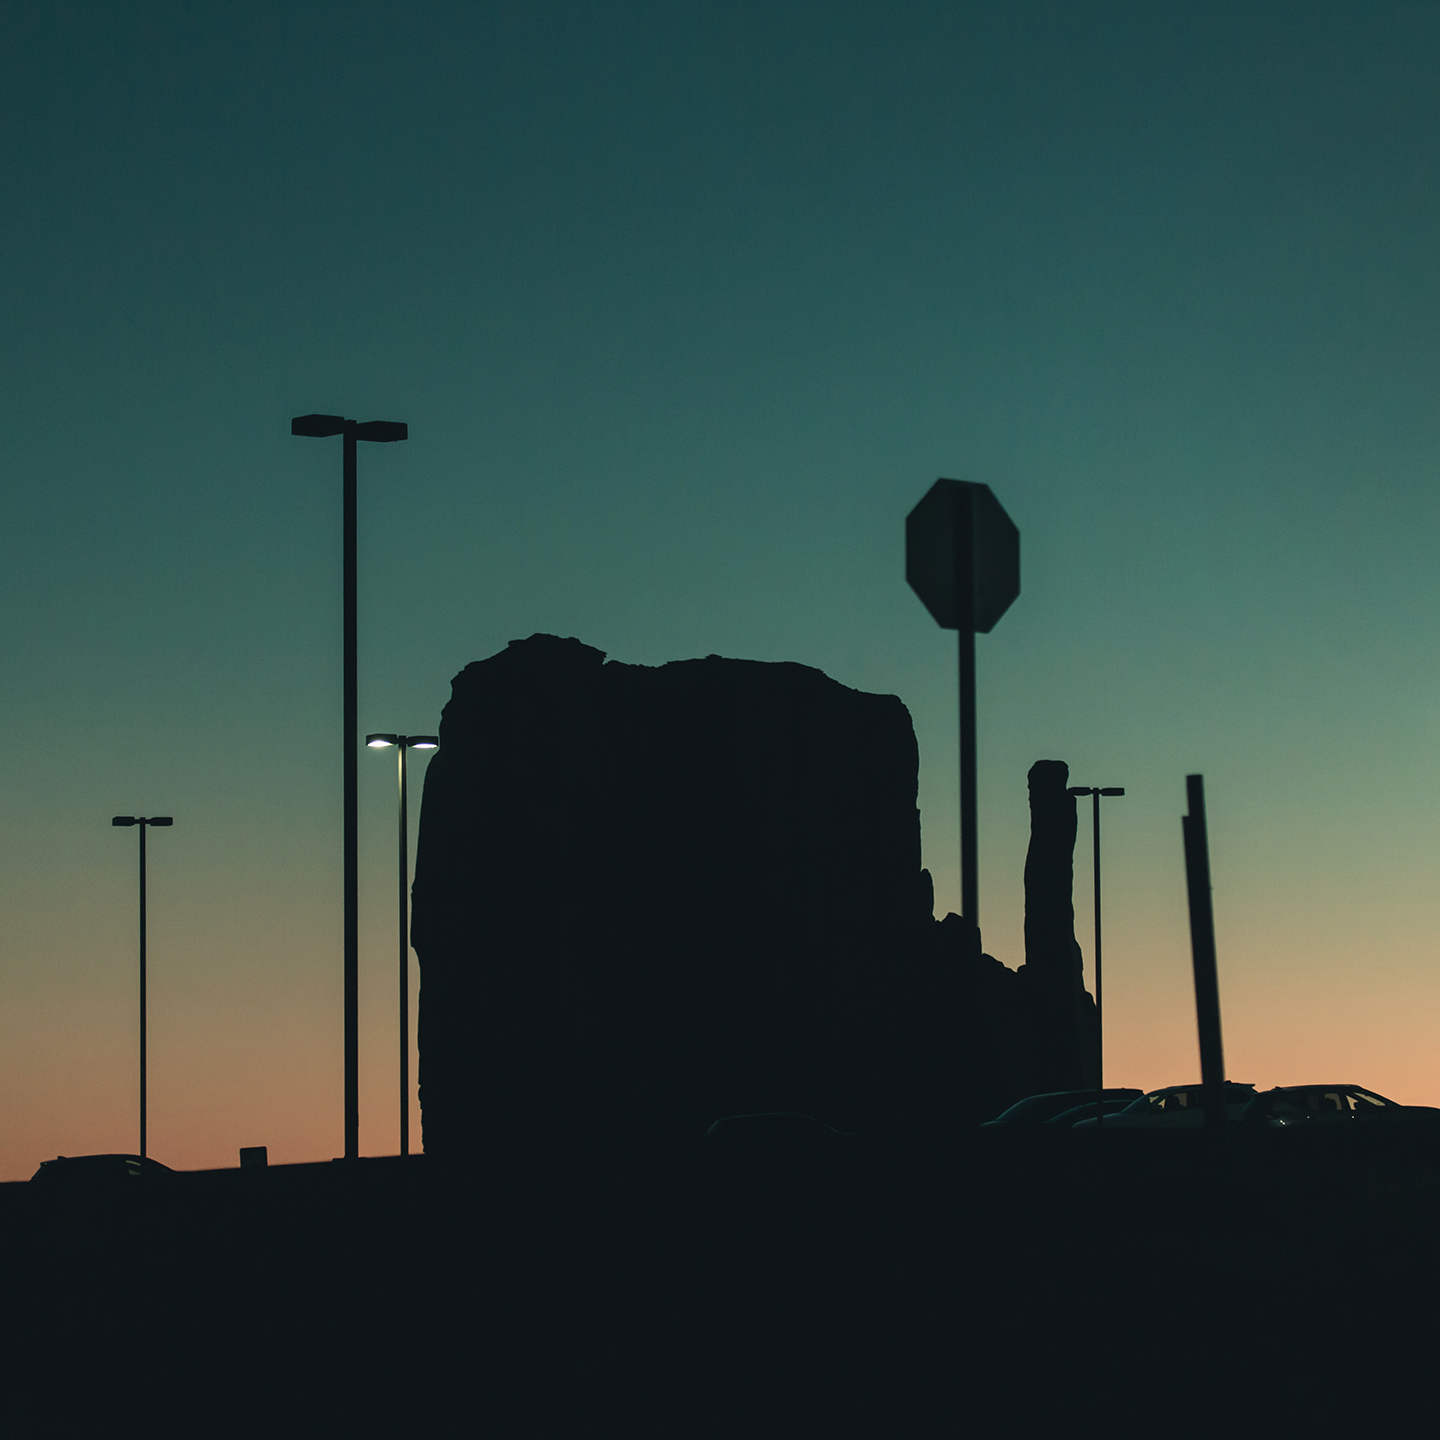
[[399, 420], [356, 423], [341, 415], [297, 415], [291, 435], [344, 436], [344, 611], [346, 611], [346, 1159], [360, 1155], [360, 775], [356, 744], [360, 706], [356, 690], [356, 441], [403, 441]]

